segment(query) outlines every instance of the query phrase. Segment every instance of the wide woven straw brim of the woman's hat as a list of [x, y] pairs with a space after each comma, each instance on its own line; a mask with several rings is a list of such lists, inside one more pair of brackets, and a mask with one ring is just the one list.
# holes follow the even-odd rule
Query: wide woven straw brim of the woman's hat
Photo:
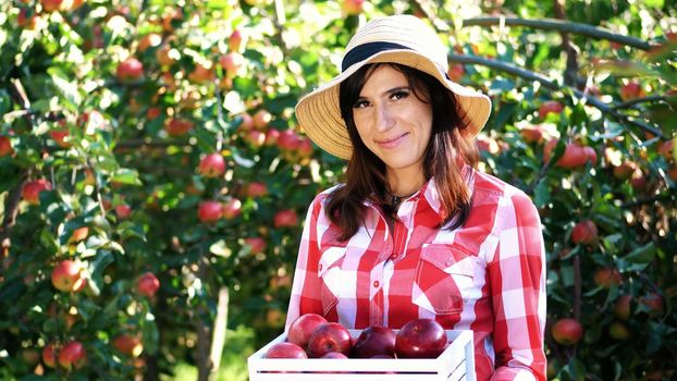
[[468, 89], [446, 78], [446, 73], [426, 56], [409, 49], [382, 51], [353, 64], [331, 82], [303, 97], [296, 105], [296, 118], [306, 134], [329, 153], [349, 160], [353, 145], [338, 106], [340, 84], [369, 63], [399, 63], [435, 77], [456, 95], [458, 106], [469, 124], [468, 134], [477, 135], [491, 113], [491, 100], [481, 93]]

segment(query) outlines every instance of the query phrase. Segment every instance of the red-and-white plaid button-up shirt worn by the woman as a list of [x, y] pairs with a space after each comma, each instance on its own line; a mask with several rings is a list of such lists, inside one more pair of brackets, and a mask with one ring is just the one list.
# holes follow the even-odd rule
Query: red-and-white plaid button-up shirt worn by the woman
[[325, 216], [333, 190], [308, 210], [286, 328], [319, 314], [346, 328], [398, 329], [431, 318], [472, 330], [478, 380], [545, 380], [545, 257], [529, 197], [496, 177], [463, 169], [472, 192], [466, 223], [436, 229], [441, 201], [429, 181], [397, 210], [391, 232], [377, 205], [347, 242]]

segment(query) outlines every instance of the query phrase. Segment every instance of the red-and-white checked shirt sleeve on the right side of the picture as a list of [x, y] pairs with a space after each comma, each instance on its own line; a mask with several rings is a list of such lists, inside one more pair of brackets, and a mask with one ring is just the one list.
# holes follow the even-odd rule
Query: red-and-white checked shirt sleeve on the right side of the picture
[[546, 380], [545, 248], [538, 210], [516, 192], [501, 201], [498, 245], [488, 263], [494, 311], [492, 380]]

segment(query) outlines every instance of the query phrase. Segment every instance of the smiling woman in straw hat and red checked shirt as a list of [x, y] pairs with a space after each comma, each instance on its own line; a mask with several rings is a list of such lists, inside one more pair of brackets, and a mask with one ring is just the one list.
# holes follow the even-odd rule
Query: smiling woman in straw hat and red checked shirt
[[448, 79], [446, 51], [414, 16], [373, 20], [297, 105], [348, 167], [308, 210], [287, 328], [309, 312], [356, 329], [431, 318], [473, 331], [478, 380], [545, 380], [539, 216], [473, 170], [491, 102]]

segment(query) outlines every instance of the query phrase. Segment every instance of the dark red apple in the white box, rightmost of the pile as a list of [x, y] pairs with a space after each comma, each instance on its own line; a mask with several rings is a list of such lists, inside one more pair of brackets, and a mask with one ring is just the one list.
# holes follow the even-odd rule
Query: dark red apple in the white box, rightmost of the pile
[[435, 358], [446, 348], [446, 333], [432, 319], [414, 319], [402, 327], [395, 339], [398, 358]]

